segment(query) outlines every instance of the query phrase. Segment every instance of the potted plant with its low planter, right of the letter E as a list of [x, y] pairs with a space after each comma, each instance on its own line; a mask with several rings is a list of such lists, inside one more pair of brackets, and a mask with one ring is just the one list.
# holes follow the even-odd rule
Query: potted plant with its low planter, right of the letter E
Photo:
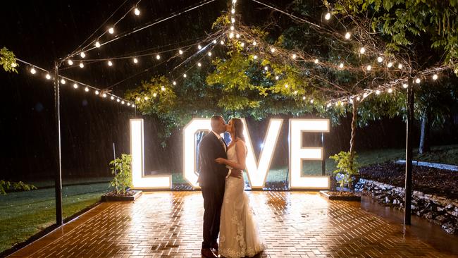
[[359, 175], [359, 164], [355, 152], [339, 152], [330, 159], [334, 159], [337, 169], [333, 171], [339, 188], [338, 191], [321, 191], [321, 195], [328, 199], [342, 199], [348, 201], [360, 201], [361, 197], [354, 195], [352, 185], [354, 179]]

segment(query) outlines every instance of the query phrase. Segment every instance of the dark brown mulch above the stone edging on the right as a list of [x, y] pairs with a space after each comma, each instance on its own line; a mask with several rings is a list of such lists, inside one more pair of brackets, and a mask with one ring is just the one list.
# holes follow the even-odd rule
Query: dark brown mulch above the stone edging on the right
[[[359, 169], [361, 178], [404, 188], [405, 165], [387, 162]], [[412, 166], [412, 188], [426, 194], [458, 198], [458, 172]]]

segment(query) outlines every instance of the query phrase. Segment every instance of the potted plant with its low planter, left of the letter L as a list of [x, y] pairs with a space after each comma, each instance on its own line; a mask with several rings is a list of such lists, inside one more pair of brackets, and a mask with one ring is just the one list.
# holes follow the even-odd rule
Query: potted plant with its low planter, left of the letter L
[[130, 190], [132, 185], [131, 161], [132, 156], [130, 154], [121, 154], [121, 158], [110, 161], [111, 173], [114, 178], [109, 185], [113, 187], [113, 191], [102, 195], [102, 201], [133, 201], [142, 195], [142, 191]]

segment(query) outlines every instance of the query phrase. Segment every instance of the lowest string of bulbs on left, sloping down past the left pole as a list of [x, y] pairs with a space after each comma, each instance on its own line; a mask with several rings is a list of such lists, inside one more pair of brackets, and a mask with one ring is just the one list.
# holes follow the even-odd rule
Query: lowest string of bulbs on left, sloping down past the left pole
[[[50, 73], [48, 70], [46, 70], [44, 68], [36, 66], [36, 65], [34, 65], [32, 63], [29, 63], [27, 61], [24, 61], [22, 59], [17, 59], [16, 58], [16, 60], [19, 61], [20, 63], [24, 63], [25, 66], [28, 66], [29, 67], [28, 70], [32, 75], [39, 74], [37, 70], [40, 70], [40, 71], [42, 71], [44, 73], [44, 78], [45, 79], [51, 80], [51, 79], [54, 78], [54, 74]], [[61, 85], [66, 85], [67, 83], [69, 83], [69, 84], [73, 83], [72, 87], [75, 90], [80, 88], [80, 87], [84, 87], [84, 91], [87, 92], [87, 93], [91, 92], [91, 90], [92, 90], [94, 92], [94, 94], [99, 95], [102, 98], [109, 98], [109, 99], [111, 99], [113, 101], [116, 100], [116, 102], [119, 102], [120, 104], [126, 104], [127, 106], [132, 106], [132, 108], [135, 108], [135, 104], [133, 104], [132, 102], [130, 102], [127, 99], [124, 99], [122, 97], [118, 97], [115, 94], [111, 94], [110, 92], [106, 92], [106, 91], [101, 90], [101, 89], [99, 89], [97, 87], [94, 87], [94, 86], [91, 86], [91, 85], [87, 85], [84, 82], [79, 82], [78, 80], [73, 80], [73, 79], [68, 78], [66, 76], [63, 76], [63, 75], [58, 75], [58, 78], [60, 79], [59, 82], [60, 82]]]

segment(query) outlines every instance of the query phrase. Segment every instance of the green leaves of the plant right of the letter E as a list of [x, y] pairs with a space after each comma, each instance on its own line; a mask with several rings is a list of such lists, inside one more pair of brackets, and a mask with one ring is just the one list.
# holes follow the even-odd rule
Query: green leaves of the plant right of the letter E
[[345, 185], [348, 188], [351, 188], [354, 176], [359, 174], [359, 164], [357, 163], [357, 154], [354, 152], [339, 152], [333, 156], [330, 156], [330, 159], [334, 159], [337, 169], [333, 171], [336, 176], [337, 182], [340, 184], [340, 189], [342, 190]]

